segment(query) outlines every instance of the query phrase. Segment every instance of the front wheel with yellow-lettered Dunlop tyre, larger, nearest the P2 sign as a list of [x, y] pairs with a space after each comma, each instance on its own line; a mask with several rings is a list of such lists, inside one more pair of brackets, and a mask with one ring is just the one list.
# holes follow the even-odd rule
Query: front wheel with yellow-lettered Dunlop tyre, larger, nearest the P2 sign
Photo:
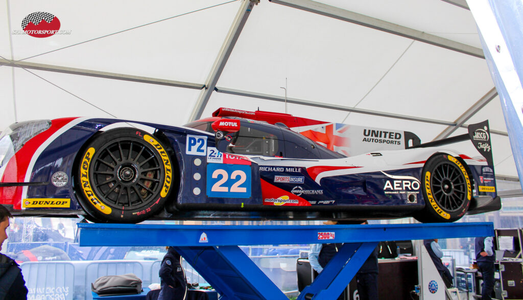
[[139, 223], [163, 208], [171, 190], [167, 150], [145, 131], [103, 132], [86, 145], [78, 163], [76, 193], [89, 219]]

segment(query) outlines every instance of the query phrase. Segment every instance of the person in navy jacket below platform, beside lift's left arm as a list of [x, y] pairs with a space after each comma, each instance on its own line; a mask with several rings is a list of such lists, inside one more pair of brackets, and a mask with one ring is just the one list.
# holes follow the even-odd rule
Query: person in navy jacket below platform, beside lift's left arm
[[167, 248], [160, 265], [161, 291], [158, 300], [185, 300], [187, 279], [181, 268], [181, 255], [173, 247]]

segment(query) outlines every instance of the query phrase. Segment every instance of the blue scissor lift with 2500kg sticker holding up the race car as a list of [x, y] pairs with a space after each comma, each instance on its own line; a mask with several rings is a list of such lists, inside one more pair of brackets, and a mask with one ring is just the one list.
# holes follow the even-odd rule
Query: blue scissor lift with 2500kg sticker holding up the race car
[[301, 299], [336, 299], [380, 241], [494, 236], [492, 223], [392, 225], [78, 224], [80, 246], [174, 246], [221, 300], [287, 300], [238, 245], [345, 243]]

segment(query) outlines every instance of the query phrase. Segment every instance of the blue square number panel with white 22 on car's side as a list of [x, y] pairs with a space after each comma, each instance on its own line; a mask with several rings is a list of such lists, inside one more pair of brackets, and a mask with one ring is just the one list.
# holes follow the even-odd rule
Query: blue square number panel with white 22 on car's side
[[251, 197], [251, 166], [207, 164], [207, 196], [219, 198]]

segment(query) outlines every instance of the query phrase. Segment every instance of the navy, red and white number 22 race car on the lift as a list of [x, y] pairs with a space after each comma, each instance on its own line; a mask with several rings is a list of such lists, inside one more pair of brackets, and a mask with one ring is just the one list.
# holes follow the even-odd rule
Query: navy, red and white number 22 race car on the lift
[[[467, 139], [476, 153], [446, 148]], [[102, 118], [15, 123], [0, 203], [16, 215], [449, 222], [501, 208], [487, 121], [450, 141], [221, 108], [181, 127]], [[481, 154], [478, 155], [478, 154]], [[470, 155], [470, 156], [469, 156]]]

